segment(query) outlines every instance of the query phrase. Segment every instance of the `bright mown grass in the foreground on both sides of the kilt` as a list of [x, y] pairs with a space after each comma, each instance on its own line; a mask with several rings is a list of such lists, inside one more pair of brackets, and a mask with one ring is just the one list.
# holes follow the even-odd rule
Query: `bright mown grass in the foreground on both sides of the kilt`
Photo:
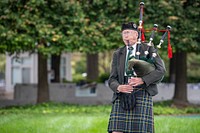
[[[0, 133], [106, 133], [109, 114], [6, 114]], [[199, 133], [200, 118], [155, 116], [158, 133]]]

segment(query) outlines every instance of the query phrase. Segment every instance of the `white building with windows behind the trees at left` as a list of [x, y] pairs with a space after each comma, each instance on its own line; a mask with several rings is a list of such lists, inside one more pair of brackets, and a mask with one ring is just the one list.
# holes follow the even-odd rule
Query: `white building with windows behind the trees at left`
[[[6, 55], [6, 92], [13, 92], [16, 83], [37, 83], [38, 82], [38, 58], [37, 54], [22, 53]], [[48, 59], [48, 79], [50, 82], [53, 76], [51, 71], [51, 60]], [[71, 53], [61, 55], [60, 79], [72, 80], [71, 74]], [[62, 80], [61, 80], [62, 81]]]

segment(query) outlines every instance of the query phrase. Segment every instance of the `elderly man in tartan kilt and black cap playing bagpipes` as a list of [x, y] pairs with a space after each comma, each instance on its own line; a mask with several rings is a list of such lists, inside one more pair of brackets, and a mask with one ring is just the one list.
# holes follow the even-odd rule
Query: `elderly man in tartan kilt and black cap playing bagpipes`
[[118, 48], [112, 59], [109, 87], [113, 90], [109, 133], [154, 132], [152, 96], [165, 66], [153, 45], [138, 43], [138, 27], [122, 24], [125, 46]]

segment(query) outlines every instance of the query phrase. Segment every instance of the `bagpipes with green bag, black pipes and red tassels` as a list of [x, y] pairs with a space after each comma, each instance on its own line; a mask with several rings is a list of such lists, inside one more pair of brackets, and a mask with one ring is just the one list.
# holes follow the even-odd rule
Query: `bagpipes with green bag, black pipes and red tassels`
[[[155, 65], [154, 63], [154, 58], [157, 56], [157, 51], [158, 49], [161, 48], [161, 45], [164, 42], [165, 37], [168, 35], [168, 57], [172, 58], [172, 47], [170, 45], [170, 30], [171, 26], [167, 26], [165, 30], [158, 30], [158, 25], [154, 24], [153, 29], [151, 30], [144, 30], [143, 27], [143, 9], [144, 9], [144, 2], [140, 2], [140, 16], [139, 16], [139, 26], [138, 26], [138, 32], [139, 32], [139, 37], [138, 37], [138, 45], [146, 45], [146, 50], [144, 51], [145, 56], [140, 56], [140, 52], [136, 51], [136, 56], [140, 56], [139, 59], [136, 59], [134, 56], [129, 57], [128, 61], [128, 76], [138, 76], [142, 77], [151, 71], [155, 70]], [[145, 36], [144, 32], [150, 32], [150, 39], [149, 42], [145, 42]], [[156, 48], [154, 48], [153, 44], [153, 39], [155, 36], [155, 32], [164, 32], [162, 38], [160, 39], [160, 43], [157, 45]], [[139, 46], [140, 47], [140, 46]], [[151, 55], [150, 55], [151, 54]], [[150, 58], [147, 58], [150, 57]], [[132, 71], [132, 74], [130, 74], [130, 71]]]

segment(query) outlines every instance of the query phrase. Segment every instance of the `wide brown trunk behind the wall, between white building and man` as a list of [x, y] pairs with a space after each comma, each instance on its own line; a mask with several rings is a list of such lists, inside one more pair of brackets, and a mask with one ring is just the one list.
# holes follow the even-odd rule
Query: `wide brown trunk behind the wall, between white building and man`
[[98, 54], [87, 54], [87, 80], [95, 81], [98, 76]]

